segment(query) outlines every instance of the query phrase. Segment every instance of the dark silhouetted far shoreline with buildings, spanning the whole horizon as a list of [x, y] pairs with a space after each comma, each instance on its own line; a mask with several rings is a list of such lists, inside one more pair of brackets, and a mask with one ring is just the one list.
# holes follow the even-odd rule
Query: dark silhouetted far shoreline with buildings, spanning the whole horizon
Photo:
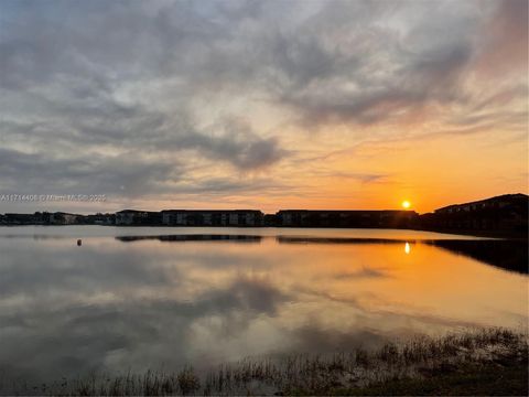
[[527, 238], [529, 196], [504, 194], [419, 214], [410, 210], [122, 210], [90, 215], [63, 212], [0, 214], [0, 225], [180, 227], [392, 228], [499, 238]]

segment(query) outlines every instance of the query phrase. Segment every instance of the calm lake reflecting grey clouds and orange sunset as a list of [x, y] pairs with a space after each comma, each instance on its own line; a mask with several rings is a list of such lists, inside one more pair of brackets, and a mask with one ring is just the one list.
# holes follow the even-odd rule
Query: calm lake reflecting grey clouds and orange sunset
[[0, 253], [3, 385], [528, 325], [527, 242], [392, 229], [20, 226], [0, 227]]

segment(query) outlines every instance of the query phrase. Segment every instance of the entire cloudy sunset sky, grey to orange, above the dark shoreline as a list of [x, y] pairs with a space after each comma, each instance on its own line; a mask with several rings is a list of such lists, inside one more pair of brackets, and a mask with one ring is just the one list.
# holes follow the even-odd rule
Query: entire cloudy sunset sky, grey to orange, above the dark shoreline
[[528, 78], [525, 0], [2, 0], [0, 196], [84, 198], [0, 213], [528, 193]]

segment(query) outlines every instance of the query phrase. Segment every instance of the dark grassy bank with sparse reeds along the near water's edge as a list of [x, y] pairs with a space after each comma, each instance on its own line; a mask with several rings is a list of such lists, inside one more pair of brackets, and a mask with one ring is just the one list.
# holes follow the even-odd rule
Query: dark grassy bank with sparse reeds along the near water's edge
[[528, 395], [527, 335], [483, 329], [421, 336], [332, 354], [246, 358], [205, 374], [177, 373], [63, 379], [15, 394], [137, 395]]

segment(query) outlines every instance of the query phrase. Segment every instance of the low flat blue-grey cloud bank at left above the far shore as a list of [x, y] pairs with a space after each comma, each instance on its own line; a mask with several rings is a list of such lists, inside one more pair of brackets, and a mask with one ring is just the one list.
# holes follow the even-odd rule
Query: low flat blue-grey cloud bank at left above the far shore
[[0, 172], [2, 191], [20, 194], [77, 192], [138, 196], [160, 192], [160, 186], [179, 178], [176, 163], [150, 160], [141, 154], [72, 159], [8, 149], [0, 149]]

